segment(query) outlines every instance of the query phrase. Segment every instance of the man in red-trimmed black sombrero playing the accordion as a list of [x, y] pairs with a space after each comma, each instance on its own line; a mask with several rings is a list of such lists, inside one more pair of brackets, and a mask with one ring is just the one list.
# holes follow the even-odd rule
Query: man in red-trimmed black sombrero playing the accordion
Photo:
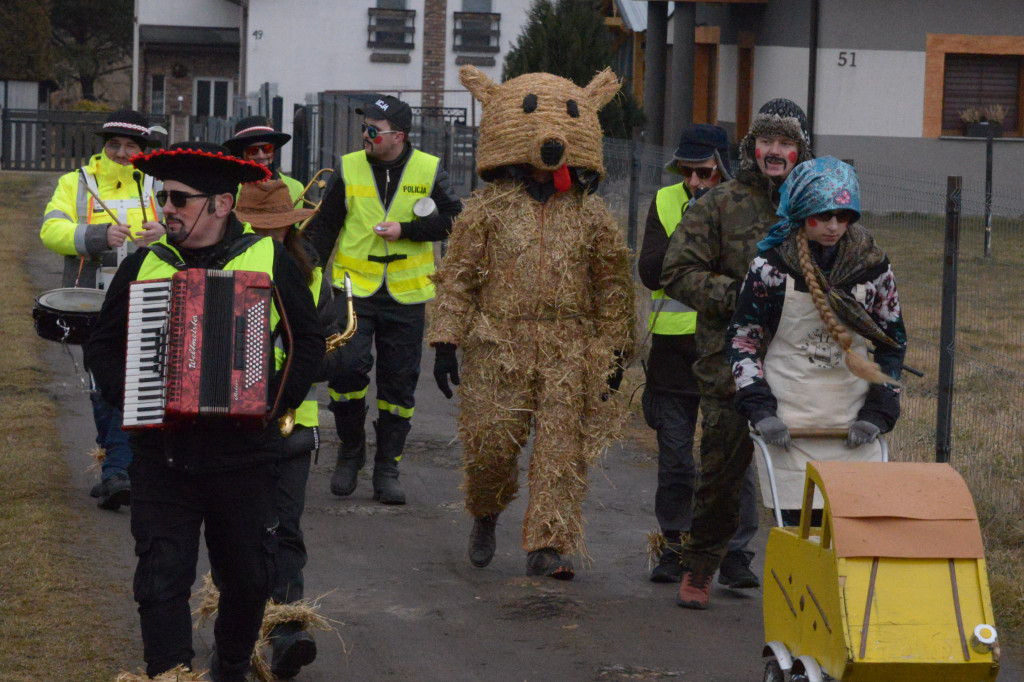
[[[284, 246], [254, 233], [232, 213], [239, 184], [266, 179], [269, 172], [209, 142], [181, 142], [133, 163], [164, 181], [158, 199], [165, 207], [167, 236], [129, 256], [106, 294], [86, 346], [103, 397], [119, 407], [124, 401], [129, 285], [202, 267], [270, 275], [294, 344], [280, 410], [297, 408], [325, 350], [312, 296]], [[276, 394], [278, 387], [271, 388]], [[254, 430], [208, 419], [131, 432], [131, 529], [138, 556], [134, 593], [151, 677], [178, 665], [191, 667], [188, 597], [205, 524], [220, 588], [210, 674], [220, 682], [246, 679], [275, 551], [276, 460], [284, 452], [278, 416]]]

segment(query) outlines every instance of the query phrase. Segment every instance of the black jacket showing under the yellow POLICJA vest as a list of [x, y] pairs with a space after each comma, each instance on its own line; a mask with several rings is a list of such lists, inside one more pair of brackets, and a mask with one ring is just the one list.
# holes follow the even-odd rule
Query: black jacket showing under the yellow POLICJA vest
[[[377, 193], [383, 200], [385, 208], [391, 206], [401, 172], [412, 154], [412, 145], [406, 144], [404, 152], [394, 161], [379, 162], [368, 158], [374, 172], [374, 180], [377, 182]], [[455, 217], [462, 211], [462, 203], [452, 198], [447, 172], [440, 166], [437, 168], [437, 180], [434, 182], [430, 198], [437, 205], [437, 215], [400, 222], [402, 239], [413, 242], [439, 242], [447, 239]], [[319, 212], [303, 230], [303, 235], [316, 252], [317, 259], [321, 263], [325, 263], [325, 271], [330, 267], [328, 258], [345, 224], [346, 215], [348, 209], [345, 206], [345, 181], [339, 172], [335, 173], [328, 183]]]

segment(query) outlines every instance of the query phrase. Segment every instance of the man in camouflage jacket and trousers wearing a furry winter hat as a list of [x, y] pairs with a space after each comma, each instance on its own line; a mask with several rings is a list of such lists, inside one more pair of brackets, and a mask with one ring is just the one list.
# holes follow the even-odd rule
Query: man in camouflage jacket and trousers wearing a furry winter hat
[[725, 354], [725, 333], [757, 244], [776, 221], [779, 186], [811, 159], [804, 112], [788, 99], [767, 102], [739, 144], [736, 177], [709, 191], [686, 213], [669, 242], [662, 270], [666, 293], [697, 311], [700, 390], [700, 484], [677, 603], [707, 608], [711, 581], [738, 524], [738, 492], [753, 445], [745, 420], [733, 410], [736, 392]]

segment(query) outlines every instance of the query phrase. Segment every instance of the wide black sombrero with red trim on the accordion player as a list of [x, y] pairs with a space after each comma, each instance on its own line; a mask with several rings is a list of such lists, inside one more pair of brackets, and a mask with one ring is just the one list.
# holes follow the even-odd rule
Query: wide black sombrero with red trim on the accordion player
[[175, 180], [211, 195], [233, 195], [240, 184], [270, 178], [266, 166], [233, 157], [214, 142], [177, 142], [166, 150], [136, 154], [131, 163], [158, 180]]

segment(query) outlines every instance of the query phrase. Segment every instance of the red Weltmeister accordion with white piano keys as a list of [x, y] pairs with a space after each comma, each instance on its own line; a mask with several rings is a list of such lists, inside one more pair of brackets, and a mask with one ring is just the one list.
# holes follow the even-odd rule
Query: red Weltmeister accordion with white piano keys
[[128, 303], [125, 429], [270, 415], [272, 285], [265, 272], [187, 269], [133, 282]]

